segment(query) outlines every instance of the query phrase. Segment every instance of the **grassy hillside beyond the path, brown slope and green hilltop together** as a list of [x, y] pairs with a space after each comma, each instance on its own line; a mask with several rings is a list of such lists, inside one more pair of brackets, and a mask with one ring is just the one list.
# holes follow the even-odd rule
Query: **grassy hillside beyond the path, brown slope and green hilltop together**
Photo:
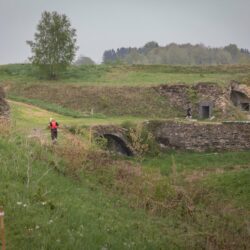
[[[249, 72], [249, 65], [91, 65], [72, 66], [58, 80], [48, 81], [34, 66], [16, 64], [0, 66], [0, 86], [9, 99], [78, 118], [90, 114], [95, 118], [183, 118], [186, 107], [173, 105], [152, 86], [214, 82], [223, 88], [231, 80], [249, 84]], [[240, 117], [236, 108], [229, 109], [224, 116]], [[220, 119], [222, 114], [217, 114]]]

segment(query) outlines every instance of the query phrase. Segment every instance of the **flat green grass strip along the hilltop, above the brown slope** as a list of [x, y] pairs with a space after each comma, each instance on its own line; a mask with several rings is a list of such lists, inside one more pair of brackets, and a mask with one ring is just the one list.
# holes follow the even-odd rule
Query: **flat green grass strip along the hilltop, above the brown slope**
[[[56, 82], [84, 86], [146, 86], [200, 81], [225, 84], [233, 79], [249, 81], [249, 69], [249, 65], [83, 65], [69, 67]], [[47, 82], [37, 68], [29, 64], [0, 66], [0, 81], [16, 83]]]

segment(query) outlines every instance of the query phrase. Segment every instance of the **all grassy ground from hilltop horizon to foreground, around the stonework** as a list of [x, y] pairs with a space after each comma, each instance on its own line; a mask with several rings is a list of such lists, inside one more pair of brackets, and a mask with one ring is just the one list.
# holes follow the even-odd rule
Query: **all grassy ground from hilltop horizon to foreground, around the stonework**
[[[102, 151], [88, 126], [183, 116], [149, 86], [249, 84], [249, 70], [96, 65], [49, 82], [31, 65], [0, 66], [12, 99], [11, 126], [0, 127], [7, 249], [247, 249], [249, 151], [126, 158]], [[56, 146], [50, 117], [60, 123]]]

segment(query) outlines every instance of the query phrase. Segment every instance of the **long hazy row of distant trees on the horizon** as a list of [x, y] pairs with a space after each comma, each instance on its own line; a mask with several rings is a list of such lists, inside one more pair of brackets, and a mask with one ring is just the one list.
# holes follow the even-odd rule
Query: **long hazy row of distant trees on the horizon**
[[159, 46], [148, 42], [140, 48], [118, 48], [103, 53], [103, 63], [121, 64], [173, 64], [173, 65], [211, 65], [211, 64], [248, 64], [250, 52], [235, 44], [223, 48], [171, 43]]

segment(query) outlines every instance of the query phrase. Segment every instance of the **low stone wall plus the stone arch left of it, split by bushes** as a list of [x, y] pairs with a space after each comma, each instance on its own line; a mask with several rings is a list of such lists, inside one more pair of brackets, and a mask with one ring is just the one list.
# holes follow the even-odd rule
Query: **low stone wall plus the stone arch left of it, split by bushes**
[[[250, 149], [250, 121], [245, 122], [196, 122], [196, 121], [149, 121], [145, 123], [156, 142], [164, 150], [234, 151]], [[92, 127], [94, 136], [108, 140], [108, 148], [133, 156], [126, 129], [114, 125]]]

